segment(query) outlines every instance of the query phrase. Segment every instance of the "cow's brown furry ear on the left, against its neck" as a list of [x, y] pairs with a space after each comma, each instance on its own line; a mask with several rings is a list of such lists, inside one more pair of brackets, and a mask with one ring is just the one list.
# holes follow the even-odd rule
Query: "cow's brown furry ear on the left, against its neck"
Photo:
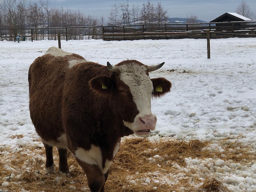
[[97, 94], [106, 96], [111, 94], [114, 89], [114, 81], [109, 76], [100, 75], [89, 81], [90, 88]]

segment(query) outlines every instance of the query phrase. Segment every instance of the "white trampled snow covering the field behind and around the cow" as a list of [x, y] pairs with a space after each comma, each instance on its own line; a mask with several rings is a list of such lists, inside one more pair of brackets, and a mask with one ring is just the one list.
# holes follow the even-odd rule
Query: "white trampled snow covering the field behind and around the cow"
[[[29, 116], [27, 74], [29, 65], [51, 46], [58, 47], [58, 42], [0, 41], [0, 158], [38, 144]], [[226, 138], [227, 144], [239, 142], [239, 147], [256, 155], [256, 38], [212, 39], [211, 59], [204, 39], [69, 40], [61, 41], [61, 48], [102, 65], [126, 59], [146, 65], [165, 62], [150, 73], [151, 78], [164, 77], [173, 85], [170, 93], [152, 101], [157, 128], [151, 137], [213, 143]], [[256, 162], [243, 166], [205, 162], [214, 166], [209, 174], [229, 191], [256, 191]], [[189, 170], [200, 162], [188, 158], [186, 165]], [[0, 183], [0, 190], [6, 185]]]

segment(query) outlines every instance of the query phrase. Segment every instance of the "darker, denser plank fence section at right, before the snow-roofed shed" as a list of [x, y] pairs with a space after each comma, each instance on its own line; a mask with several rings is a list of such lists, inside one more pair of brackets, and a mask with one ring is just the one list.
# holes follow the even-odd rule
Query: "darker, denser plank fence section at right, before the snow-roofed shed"
[[256, 37], [255, 22], [104, 26], [103, 40]]

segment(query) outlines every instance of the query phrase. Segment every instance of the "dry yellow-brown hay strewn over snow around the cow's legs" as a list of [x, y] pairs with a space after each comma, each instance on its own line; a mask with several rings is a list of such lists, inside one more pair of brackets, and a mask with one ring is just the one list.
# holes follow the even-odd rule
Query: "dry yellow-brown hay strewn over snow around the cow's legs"
[[[22, 137], [22, 136], [19, 136]], [[18, 136], [13, 136], [13, 139]], [[123, 138], [121, 147], [105, 185], [106, 192], [217, 192], [227, 191], [214, 166], [205, 160], [248, 163], [255, 155], [241, 147], [238, 140], [219, 141], [176, 140], [174, 138]], [[213, 143], [215, 142], [215, 143]], [[68, 163], [70, 176], [44, 174], [45, 151], [42, 145], [27, 145], [19, 149], [0, 146], [0, 189], [8, 192], [67, 192], [89, 191], [86, 176], [72, 154]], [[218, 150], [222, 147], [221, 152]], [[213, 150], [215, 148], [215, 150]], [[186, 159], [203, 163], [209, 172], [186, 165]], [[58, 152], [54, 149], [58, 171]], [[205, 163], [205, 164], [204, 164]], [[201, 165], [202, 166], [202, 165]]]

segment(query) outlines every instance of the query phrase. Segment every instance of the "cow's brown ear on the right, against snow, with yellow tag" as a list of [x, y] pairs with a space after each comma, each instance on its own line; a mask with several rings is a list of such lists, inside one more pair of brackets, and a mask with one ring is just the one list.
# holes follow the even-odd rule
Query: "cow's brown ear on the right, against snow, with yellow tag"
[[170, 81], [168, 81], [165, 78], [154, 78], [151, 79], [153, 83], [153, 96], [154, 97], [161, 97], [162, 95], [166, 94], [167, 92], [170, 92], [172, 84]]

